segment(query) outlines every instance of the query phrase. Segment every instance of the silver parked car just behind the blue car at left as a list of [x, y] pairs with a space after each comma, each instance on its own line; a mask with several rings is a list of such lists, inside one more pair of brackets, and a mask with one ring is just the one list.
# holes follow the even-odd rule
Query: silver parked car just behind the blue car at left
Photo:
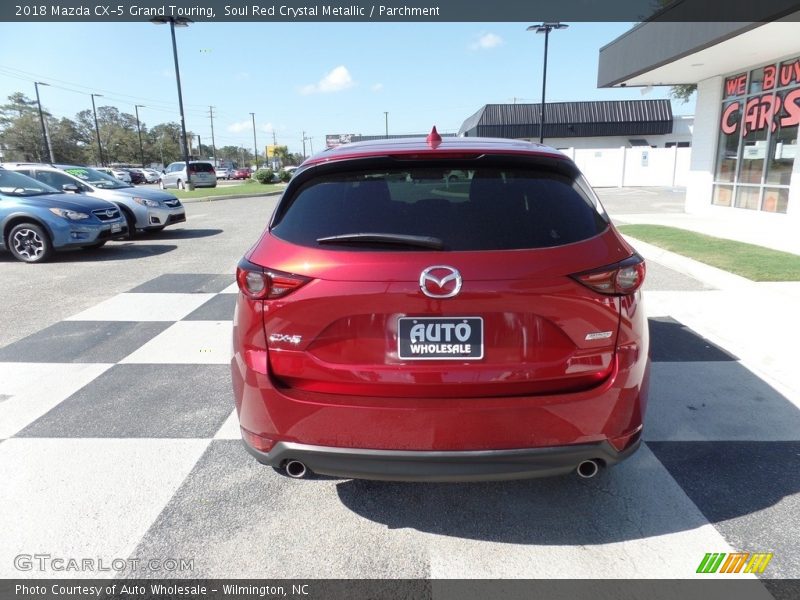
[[6, 163], [3, 166], [58, 190], [113, 202], [125, 216], [131, 237], [137, 229], [161, 231], [167, 225], [186, 221], [186, 209], [172, 194], [134, 187], [90, 167], [38, 163]]

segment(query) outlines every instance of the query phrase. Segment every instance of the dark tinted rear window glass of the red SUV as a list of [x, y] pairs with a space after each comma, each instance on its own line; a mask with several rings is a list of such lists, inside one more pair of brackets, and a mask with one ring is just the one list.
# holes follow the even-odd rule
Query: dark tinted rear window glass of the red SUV
[[314, 179], [287, 198], [272, 232], [304, 246], [347, 250], [404, 249], [404, 239], [409, 249], [547, 248], [606, 229], [590, 194], [569, 176], [530, 168], [344, 173]]

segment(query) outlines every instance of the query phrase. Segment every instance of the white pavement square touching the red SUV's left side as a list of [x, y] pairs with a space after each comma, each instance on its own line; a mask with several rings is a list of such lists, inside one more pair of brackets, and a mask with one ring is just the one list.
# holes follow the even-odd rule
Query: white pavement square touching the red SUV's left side
[[232, 356], [231, 321], [179, 321], [121, 363], [224, 365]]

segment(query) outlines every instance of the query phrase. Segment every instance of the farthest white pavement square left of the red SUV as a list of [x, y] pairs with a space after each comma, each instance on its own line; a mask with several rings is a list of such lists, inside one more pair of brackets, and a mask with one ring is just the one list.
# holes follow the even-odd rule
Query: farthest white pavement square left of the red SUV
[[179, 321], [215, 294], [119, 294], [67, 321]]

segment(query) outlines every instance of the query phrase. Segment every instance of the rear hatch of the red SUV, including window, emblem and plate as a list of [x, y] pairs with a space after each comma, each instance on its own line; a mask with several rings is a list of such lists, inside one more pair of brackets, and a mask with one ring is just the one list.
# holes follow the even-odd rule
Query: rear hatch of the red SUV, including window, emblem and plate
[[619, 299], [574, 276], [632, 252], [568, 161], [362, 160], [299, 177], [248, 257], [292, 288], [263, 313], [287, 391], [553, 394], [613, 372]]

